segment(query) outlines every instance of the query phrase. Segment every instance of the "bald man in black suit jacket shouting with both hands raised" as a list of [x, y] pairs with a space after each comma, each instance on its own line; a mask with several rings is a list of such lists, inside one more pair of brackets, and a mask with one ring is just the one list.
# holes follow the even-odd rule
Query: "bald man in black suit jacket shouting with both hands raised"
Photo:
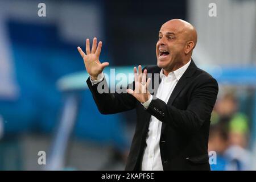
[[[102, 42], [86, 40], [84, 59], [90, 77], [86, 81], [102, 114], [131, 109], [137, 125], [126, 170], [210, 170], [208, 136], [210, 115], [218, 94], [217, 81], [196, 67], [191, 59], [197, 32], [188, 22], [172, 19], [164, 23], [156, 43], [157, 65], [134, 67], [133, 88], [127, 93], [98, 93], [106, 80], [100, 63]], [[148, 73], [158, 75], [148, 77]], [[154, 74], [153, 74], [154, 75]], [[156, 81], [160, 84], [156, 85]], [[149, 92], [150, 82], [154, 93]]]

